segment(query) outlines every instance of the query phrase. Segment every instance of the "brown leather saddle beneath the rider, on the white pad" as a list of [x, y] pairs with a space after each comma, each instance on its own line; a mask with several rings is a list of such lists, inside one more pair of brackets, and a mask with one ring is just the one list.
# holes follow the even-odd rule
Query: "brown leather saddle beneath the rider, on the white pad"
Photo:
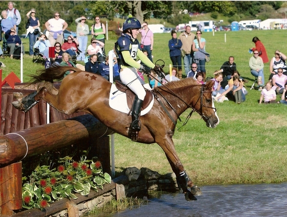
[[[132, 110], [133, 102], [135, 99], [135, 93], [133, 91], [131, 91], [131, 89], [128, 86], [126, 86], [124, 83], [122, 83], [120, 81], [116, 80], [115, 86], [119, 91], [126, 93], [128, 107], [130, 110]], [[149, 106], [149, 104], [151, 103], [151, 101], [153, 100], [152, 92], [146, 88], [145, 88], [145, 91], [146, 91], [146, 96], [144, 99], [144, 103], [142, 103], [141, 111], [146, 109]]]

